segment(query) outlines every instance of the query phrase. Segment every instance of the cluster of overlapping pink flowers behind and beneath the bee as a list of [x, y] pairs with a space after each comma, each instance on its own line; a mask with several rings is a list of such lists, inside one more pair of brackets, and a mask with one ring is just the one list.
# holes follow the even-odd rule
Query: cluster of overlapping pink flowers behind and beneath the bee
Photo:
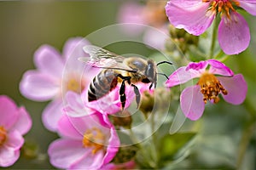
[[[80, 57], [89, 59], [89, 54], [83, 50], [88, 44], [81, 37], [69, 39], [63, 49], [63, 58], [49, 45], [40, 47], [35, 53], [38, 70], [26, 71], [20, 82], [20, 92], [28, 99], [52, 99], [42, 116], [44, 126], [61, 136], [48, 150], [50, 162], [55, 167], [108, 167], [108, 162], [119, 150], [119, 137], [108, 115], [122, 110], [121, 84], [108, 95], [89, 101], [91, 83], [101, 70], [93, 68], [90, 62], [79, 61]], [[140, 93], [145, 90], [140, 84], [137, 87]], [[135, 97], [133, 87], [125, 88], [125, 96], [126, 108]]]

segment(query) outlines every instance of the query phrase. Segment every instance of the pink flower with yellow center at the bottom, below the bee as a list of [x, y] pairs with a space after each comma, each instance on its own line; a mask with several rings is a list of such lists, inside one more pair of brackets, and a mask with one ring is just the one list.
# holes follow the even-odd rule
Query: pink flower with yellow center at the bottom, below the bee
[[119, 138], [108, 116], [95, 112], [90, 116], [64, 115], [58, 123], [61, 139], [49, 145], [52, 165], [67, 169], [99, 169], [113, 159]]

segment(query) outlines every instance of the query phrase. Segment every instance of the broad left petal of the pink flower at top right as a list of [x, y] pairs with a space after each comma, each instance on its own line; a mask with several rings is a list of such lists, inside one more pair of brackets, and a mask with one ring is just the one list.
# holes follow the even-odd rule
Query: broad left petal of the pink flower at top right
[[212, 24], [215, 13], [209, 3], [201, 0], [172, 0], [166, 4], [166, 14], [171, 24], [195, 36], [201, 35]]

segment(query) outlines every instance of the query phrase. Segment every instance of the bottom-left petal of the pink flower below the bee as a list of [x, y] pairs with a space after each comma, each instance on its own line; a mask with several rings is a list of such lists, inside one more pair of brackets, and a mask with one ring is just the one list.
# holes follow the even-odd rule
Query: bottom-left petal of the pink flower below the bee
[[57, 139], [48, 149], [50, 163], [66, 169], [89, 153], [90, 150], [83, 148], [82, 140]]

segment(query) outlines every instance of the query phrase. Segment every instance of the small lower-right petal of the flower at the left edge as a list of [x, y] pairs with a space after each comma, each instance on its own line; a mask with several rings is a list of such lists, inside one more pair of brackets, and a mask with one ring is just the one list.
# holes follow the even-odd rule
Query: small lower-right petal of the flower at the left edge
[[20, 150], [21, 146], [24, 144], [24, 139], [20, 132], [15, 130], [8, 133], [7, 140], [4, 143], [4, 147], [12, 148], [12, 150]]

